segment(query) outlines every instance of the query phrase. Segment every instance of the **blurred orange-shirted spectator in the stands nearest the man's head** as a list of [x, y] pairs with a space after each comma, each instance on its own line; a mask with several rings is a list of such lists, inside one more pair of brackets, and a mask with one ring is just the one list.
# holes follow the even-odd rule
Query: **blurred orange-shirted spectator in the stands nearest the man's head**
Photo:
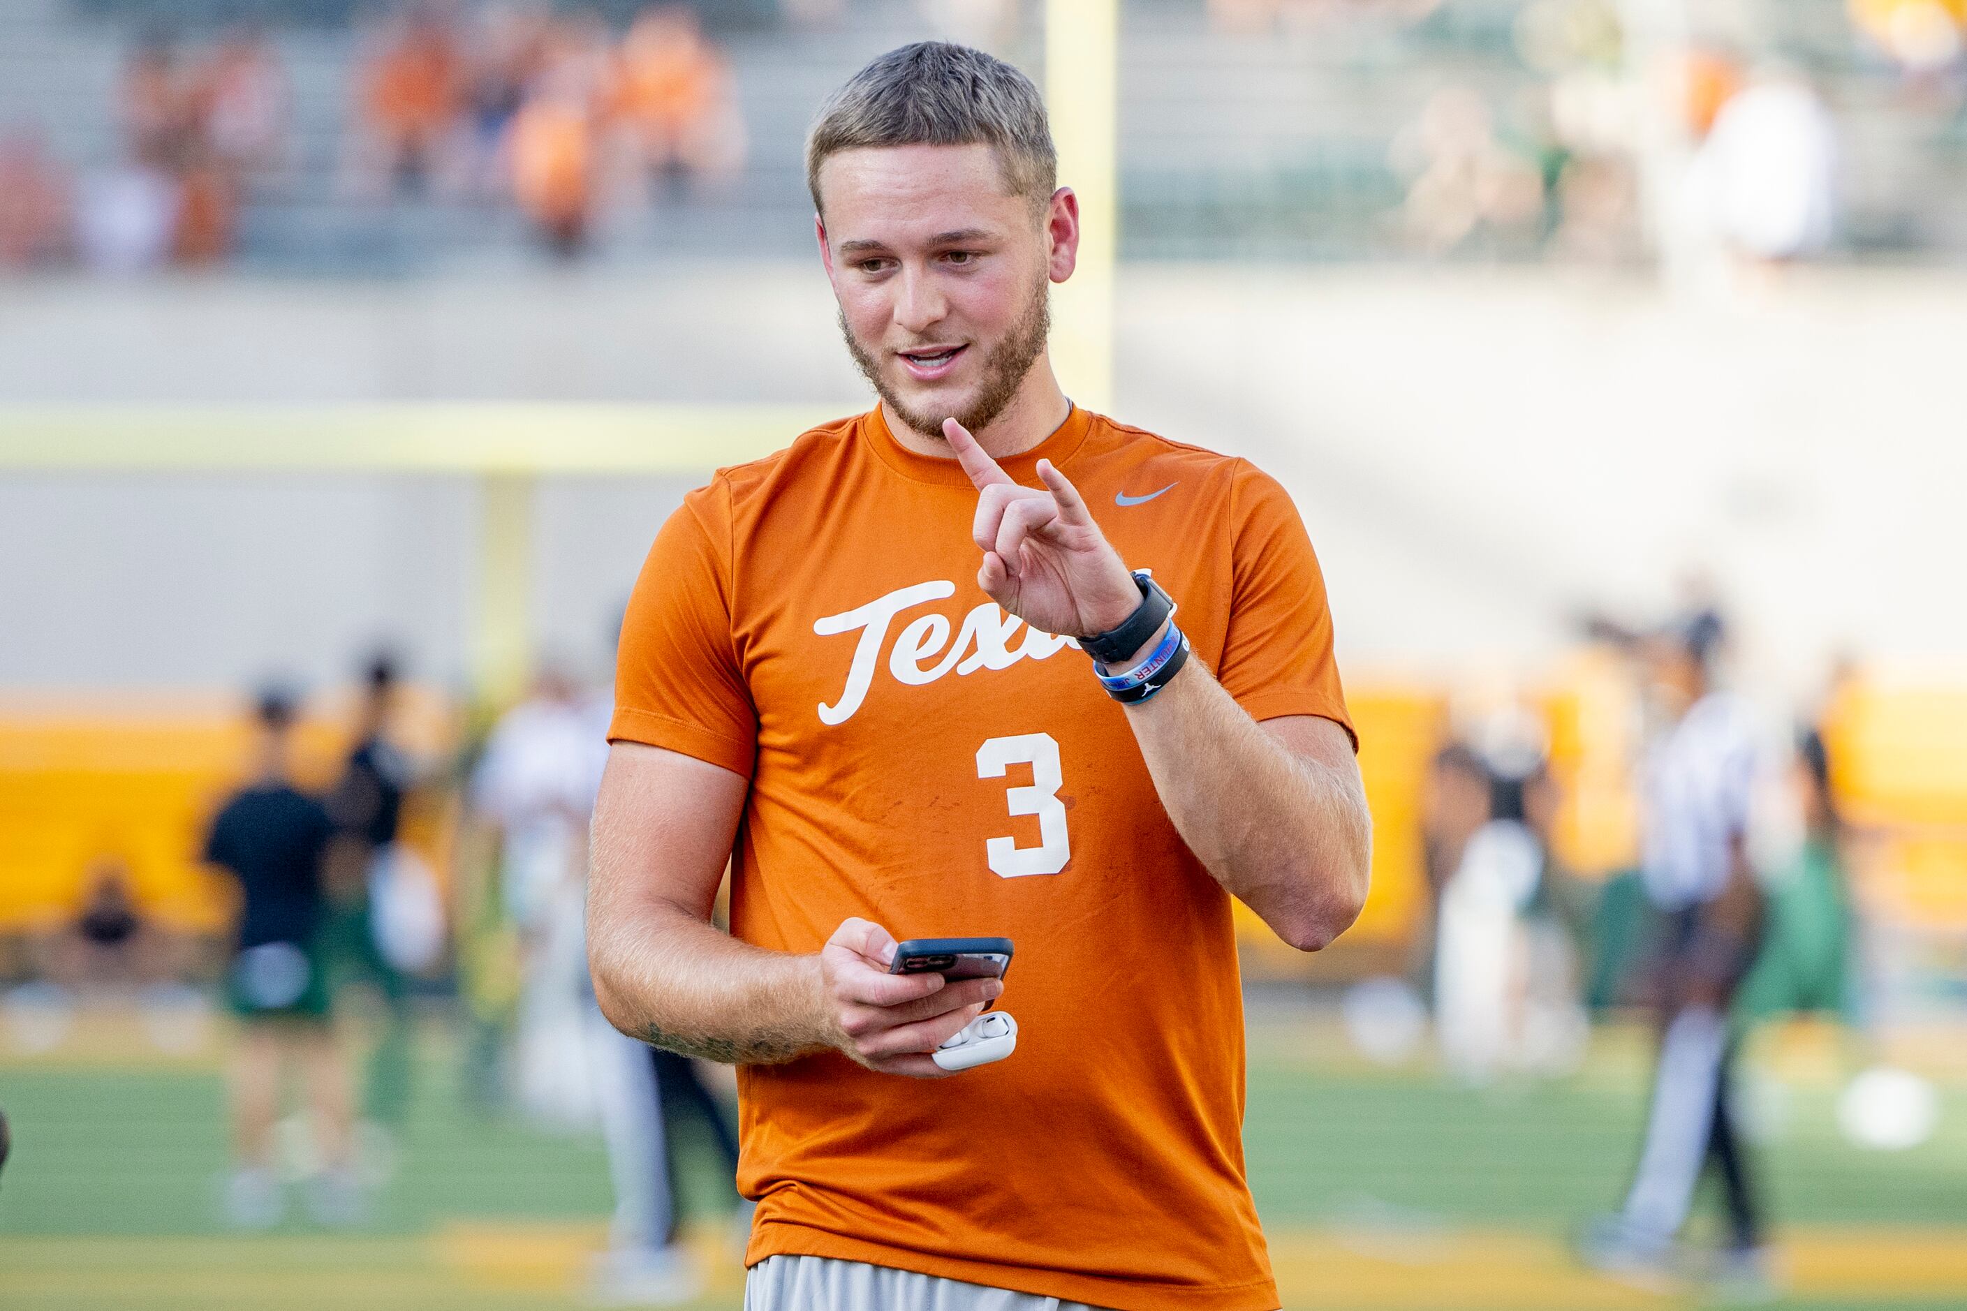
[[622, 41], [614, 116], [657, 177], [728, 175], [744, 163], [744, 120], [724, 57], [681, 4], [643, 10]]

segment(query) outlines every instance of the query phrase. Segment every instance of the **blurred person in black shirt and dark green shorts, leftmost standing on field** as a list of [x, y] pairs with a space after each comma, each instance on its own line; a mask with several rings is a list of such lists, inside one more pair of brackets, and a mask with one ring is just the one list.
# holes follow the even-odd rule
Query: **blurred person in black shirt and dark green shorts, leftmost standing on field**
[[340, 1225], [360, 1213], [348, 1071], [330, 1024], [321, 941], [323, 861], [334, 826], [293, 782], [293, 717], [285, 694], [260, 700], [258, 776], [218, 812], [205, 843], [205, 859], [238, 881], [242, 902], [228, 975], [240, 1034], [232, 1057], [236, 1169], [226, 1185], [226, 1219], [242, 1228], [277, 1225], [285, 1211], [273, 1126], [289, 1073], [305, 1089], [325, 1164], [309, 1197], [315, 1219]]

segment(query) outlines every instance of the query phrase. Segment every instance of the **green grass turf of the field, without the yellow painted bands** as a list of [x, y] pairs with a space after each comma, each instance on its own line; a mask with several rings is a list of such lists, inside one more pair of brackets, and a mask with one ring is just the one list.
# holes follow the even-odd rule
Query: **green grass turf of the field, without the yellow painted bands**
[[[1524, 1234], [1552, 1248], [1617, 1199], [1644, 1112], [1637, 1063], [1597, 1061], [1574, 1079], [1475, 1093], [1426, 1069], [1302, 1055], [1328, 1038], [1286, 1028], [1253, 1042], [1245, 1142], [1273, 1232], [1338, 1234], [1345, 1250], [1424, 1246], [1458, 1232]], [[14, 1160], [0, 1185], [0, 1305], [578, 1305], [566, 1291], [566, 1252], [598, 1236], [610, 1205], [598, 1142], [474, 1114], [454, 1071], [448, 1044], [429, 1044], [401, 1168], [370, 1225], [325, 1234], [293, 1221], [268, 1238], [232, 1238], [216, 1221], [226, 1166], [216, 1071], [0, 1061], [0, 1107], [14, 1124]], [[1947, 1095], [1941, 1134], [1896, 1156], [1843, 1142], [1827, 1085], [1790, 1089], [1776, 1120], [1780, 1132], [1758, 1158], [1778, 1225], [1916, 1234], [1967, 1223], [1967, 1099], [1957, 1091]], [[714, 1217], [728, 1183], [700, 1136], [686, 1150], [686, 1209]], [[472, 1274], [476, 1258], [447, 1256], [462, 1250], [447, 1246], [456, 1232], [480, 1234], [464, 1248], [492, 1252], [490, 1278]], [[502, 1238], [507, 1232], [549, 1234], [543, 1264], [507, 1260], [515, 1242], [523, 1246]], [[572, 1238], [551, 1238], [557, 1232]], [[1328, 1260], [1338, 1252], [1330, 1242], [1306, 1238], [1302, 1260]], [[700, 1305], [736, 1305], [730, 1280]], [[1395, 1280], [1361, 1303], [1334, 1289], [1320, 1303], [1434, 1305], [1401, 1287]], [[1837, 1297], [1782, 1305], [1967, 1305], [1967, 1287], [1932, 1299], [1908, 1287], [1894, 1295], [1880, 1282], [1873, 1297], [1859, 1280], [1857, 1301], [1845, 1295], [1849, 1282], [1839, 1287]], [[1564, 1305], [1564, 1293], [1554, 1295], [1538, 1305]]]

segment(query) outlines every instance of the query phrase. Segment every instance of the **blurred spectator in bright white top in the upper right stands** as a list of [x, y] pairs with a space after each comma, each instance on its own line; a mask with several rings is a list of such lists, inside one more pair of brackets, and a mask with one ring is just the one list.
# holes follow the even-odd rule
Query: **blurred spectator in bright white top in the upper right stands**
[[1831, 240], [1835, 167], [1835, 128], [1816, 88], [1800, 73], [1764, 67], [1715, 114], [1688, 169], [1688, 193], [1737, 256], [1806, 259]]

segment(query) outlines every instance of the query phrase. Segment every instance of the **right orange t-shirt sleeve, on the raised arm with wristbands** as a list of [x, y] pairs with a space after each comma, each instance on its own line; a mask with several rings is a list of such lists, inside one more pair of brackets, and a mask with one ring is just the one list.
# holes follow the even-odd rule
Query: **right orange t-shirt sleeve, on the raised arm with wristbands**
[[1290, 493], [1237, 462], [1231, 484], [1235, 582], [1216, 678], [1253, 719], [1322, 715], [1359, 747], [1332, 658], [1326, 580]]

